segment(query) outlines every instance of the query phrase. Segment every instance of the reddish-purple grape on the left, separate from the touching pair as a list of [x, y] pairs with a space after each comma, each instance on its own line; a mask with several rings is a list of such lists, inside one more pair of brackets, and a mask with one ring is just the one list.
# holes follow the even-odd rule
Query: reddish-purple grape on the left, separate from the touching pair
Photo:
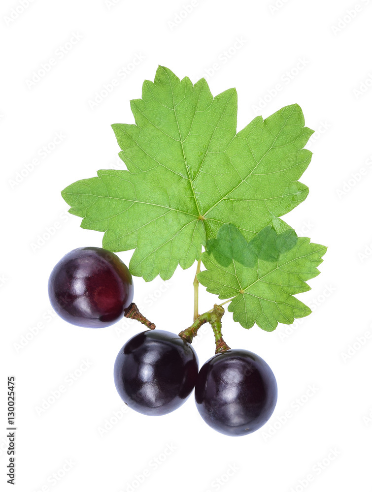
[[54, 267], [49, 299], [64, 320], [102, 328], [120, 319], [133, 301], [133, 281], [116, 254], [100, 247], [79, 247]]

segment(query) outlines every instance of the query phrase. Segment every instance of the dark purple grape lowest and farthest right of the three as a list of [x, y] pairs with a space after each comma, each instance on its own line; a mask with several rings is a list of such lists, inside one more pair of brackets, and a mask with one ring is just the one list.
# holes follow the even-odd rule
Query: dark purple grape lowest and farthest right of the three
[[248, 350], [230, 349], [200, 369], [195, 400], [204, 421], [226, 435], [257, 431], [271, 417], [277, 399], [268, 364]]

